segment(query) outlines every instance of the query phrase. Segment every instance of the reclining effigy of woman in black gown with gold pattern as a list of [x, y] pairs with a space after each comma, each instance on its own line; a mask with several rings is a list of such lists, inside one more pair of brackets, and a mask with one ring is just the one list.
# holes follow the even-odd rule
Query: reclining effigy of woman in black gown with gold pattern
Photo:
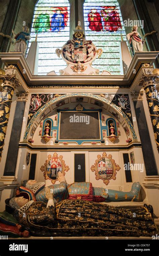
[[[54, 204], [46, 187], [48, 203], [23, 197], [6, 199], [13, 213], [34, 236], [152, 236], [157, 229], [144, 206], [120, 208], [85, 200], [63, 200]], [[148, 206], [147, 206], [148, 207]]]

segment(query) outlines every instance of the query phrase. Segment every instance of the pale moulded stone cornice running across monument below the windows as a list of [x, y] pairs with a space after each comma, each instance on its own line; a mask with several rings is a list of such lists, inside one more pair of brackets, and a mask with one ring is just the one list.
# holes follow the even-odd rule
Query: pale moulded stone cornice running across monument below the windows
[[[76, 81], [77, 85], [90, 85], [90, 84], [103, 84], [103, 85], [129, 85], [133, 83], [135, 77], [138, 76], [138, 72], [142, 67], [142, 64], [147, 63], [150, 66], [155, 61], [158, 52], [138, 52], [135, 53], [131, 64], [127, 70], [126, 75], [49, 75], [49, 76], [38, 76], [33, 75], [28, 66], [28, 63], [20, 53], [1, 53], [0, 57], [6, 66], [9, 64], [15, 65], [16, 67], [16, 75], [21, 76], [21, 80], [23, 81], [23, 91], [27, 91], [28, 85], [47, 85], [47, 84], [63, 84], [63, 85], [71, 85]], [[18, 77], [19, 79], [19, 77]], [[24, 88], [25, 87], [25, 88]], [[134, 89], [133, 89], [134, 90]]]

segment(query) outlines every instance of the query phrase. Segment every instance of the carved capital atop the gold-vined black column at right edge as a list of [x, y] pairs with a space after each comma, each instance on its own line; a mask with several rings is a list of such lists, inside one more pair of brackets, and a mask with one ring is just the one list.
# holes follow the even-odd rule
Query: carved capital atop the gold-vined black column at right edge
[[157, 78], [158, 78], [158, 75], [153, 74], [150, 69], [145, 70], [145, 73], [143, 74], [142, 78], [140, 79], [138, 85], [143, 86], [144, 88], [146, 86], [156, 85], [155, 81]]

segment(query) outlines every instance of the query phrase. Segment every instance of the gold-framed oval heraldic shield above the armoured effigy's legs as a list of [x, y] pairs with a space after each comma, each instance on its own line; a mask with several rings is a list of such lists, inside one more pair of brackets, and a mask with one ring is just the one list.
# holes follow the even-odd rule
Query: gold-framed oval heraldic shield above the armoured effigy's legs
[[96, 180], [101, 179], [105, 185], [108, 185], [109, 180], [116, 180], [116, 171], [119, 171], [120, 167], [112, 159], [112, 155], [107, 156], [106, 152], [103, 152], [102, 157], [98, 155], [97, 158], [91, 170], [95, 171]]

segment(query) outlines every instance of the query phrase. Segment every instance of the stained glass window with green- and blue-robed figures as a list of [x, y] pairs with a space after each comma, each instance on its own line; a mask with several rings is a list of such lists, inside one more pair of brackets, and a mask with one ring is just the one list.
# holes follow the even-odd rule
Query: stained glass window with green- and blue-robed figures
[[59, 74], [59, 70], [66, 67], [66, 63], [62, 58], [57, 57], [55, 50], [62, 48], [63, 44], [69, 40], [69, 17], [70, 6], [68, 0], [37, 1], [28, 51], [38, 32], [39, 75], [46, 75], [51, 71]]

